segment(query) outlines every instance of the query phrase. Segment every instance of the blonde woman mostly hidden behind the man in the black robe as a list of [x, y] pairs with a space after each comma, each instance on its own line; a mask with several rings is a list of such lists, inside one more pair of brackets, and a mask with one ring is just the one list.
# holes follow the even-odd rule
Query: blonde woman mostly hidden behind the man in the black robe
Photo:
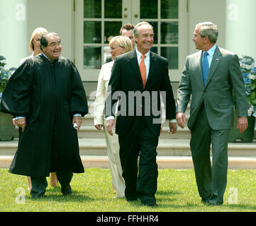
[[[48, 31], [45, 28], [35, 28], [33, 31], [31, 37], [30, 37], [30, 42], [29, 42], [29, 52], [32, 52], [32, 54], [29, 57], [21, 59], [21, 64], [26, 61], [26, 59], [29, 59], [31, 57], [35, 57], [36, 55], [41, 53], [40, 49], [40, 39], [43, 34], [48, 33]], [[13, 118], [13, 125], [16, 126], [16, 120]], [[32, 189], [32, 184], [30, 177], [28, 178], [28, 191]], [[55, 172], [50, 173], [50, 184], [51, 186], [57, 186], [57, 177]]]

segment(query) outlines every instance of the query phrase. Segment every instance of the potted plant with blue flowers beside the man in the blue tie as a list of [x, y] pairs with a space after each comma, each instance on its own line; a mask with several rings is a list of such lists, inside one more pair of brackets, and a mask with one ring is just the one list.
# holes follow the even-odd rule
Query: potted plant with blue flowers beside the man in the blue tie
[[[234, 111], [233, 129], [230, 130], [228, 142], [235, 142], [237, 139], [243, 142], [252, 142], [255, 132], [255, 117], [256, 117], [256, 67], [255, 60], [252, 57], [243, 56], [239, 59], [240, 70], [243, 74], [243, 81], [245, 83], [245, 93], [248, 104], [248, 128], [244, 133], [239, 133], [236, 129], [238, 116], [236, 110]], [[234, 99], [235, 106], [235, 99]]]

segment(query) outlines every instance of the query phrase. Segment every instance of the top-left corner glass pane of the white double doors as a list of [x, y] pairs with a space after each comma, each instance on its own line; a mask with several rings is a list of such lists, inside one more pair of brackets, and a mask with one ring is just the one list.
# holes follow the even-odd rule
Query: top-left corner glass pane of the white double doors
[[101, 0], [84, 0], [84, 18], [101, 18]]

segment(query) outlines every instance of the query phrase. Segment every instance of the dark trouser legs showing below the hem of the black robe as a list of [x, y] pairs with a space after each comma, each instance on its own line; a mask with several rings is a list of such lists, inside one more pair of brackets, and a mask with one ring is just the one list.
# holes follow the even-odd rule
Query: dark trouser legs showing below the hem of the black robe
[[[56, 176], [58, 181], [60, 182], [60, 185], [62, 187], [67, 187], [71, 182], [73, 173], [57, 171]], [[48, 186], [46, 177], [30, 177], [30, 178], [31, 178], [31, 184], [32, 184], [30, 195], [35, 198], [43, 196], [45, 194], [45, 189]]]

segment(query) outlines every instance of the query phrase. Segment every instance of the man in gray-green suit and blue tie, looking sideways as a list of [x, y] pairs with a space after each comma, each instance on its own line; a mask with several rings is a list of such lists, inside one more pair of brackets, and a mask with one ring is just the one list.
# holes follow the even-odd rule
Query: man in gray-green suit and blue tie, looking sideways
[[[216, 45], [218, 28], [199, 23], [192, 40], [201, 51], [187, 57], [177, 95], [177, 124], [191, 99], [188, 127], [199, 196], [203, 203], [221, 205], [227, 184], [228, 133], [233, 126], [233, 92], [238, 129], [247, 129], [247, 100], [238, 56]], [[210, 146], [212, 145], [212, 166]]]

